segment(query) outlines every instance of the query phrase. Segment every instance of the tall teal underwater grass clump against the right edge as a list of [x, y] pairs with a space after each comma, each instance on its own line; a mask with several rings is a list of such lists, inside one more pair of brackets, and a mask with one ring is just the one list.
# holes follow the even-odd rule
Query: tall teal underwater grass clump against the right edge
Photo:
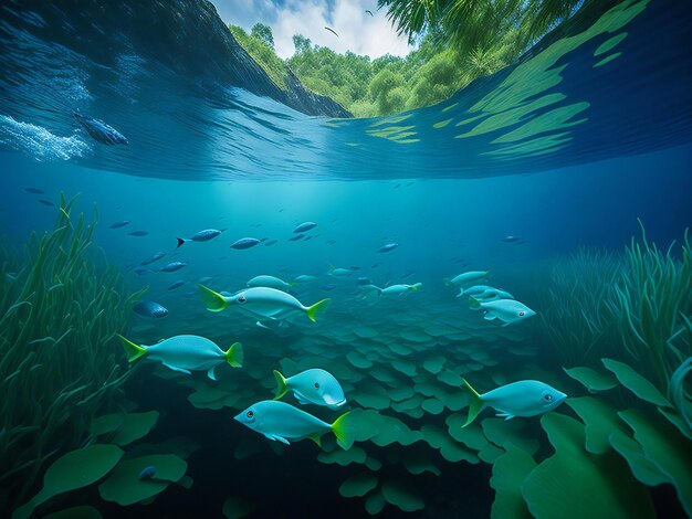
[[692, 247], [688, 231], [679, 257], [672, 254], [674, 242], [663, 252], [649, 243], [643, 225], [641, 236], [627, 248], [610, 306], [619, 317], [622, 346], [641, 374], [665, 393], [672, 373], [692, 356]]

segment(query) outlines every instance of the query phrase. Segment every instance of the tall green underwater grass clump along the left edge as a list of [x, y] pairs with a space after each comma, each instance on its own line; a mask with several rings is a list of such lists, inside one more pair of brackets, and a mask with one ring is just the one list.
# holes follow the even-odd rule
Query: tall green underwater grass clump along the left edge
[[[96, 222], [71, 215], [61, 195], [52, 231], [35, 233], [24, 261], [0, 266], [0, 505], [22, 502], [45, 462], [88, 442], [95, 414], [115, 404], [127, 372], [112, 341], [133, 296], [96, 256]], [[9, 508], [8, 508], [9, 506]]]

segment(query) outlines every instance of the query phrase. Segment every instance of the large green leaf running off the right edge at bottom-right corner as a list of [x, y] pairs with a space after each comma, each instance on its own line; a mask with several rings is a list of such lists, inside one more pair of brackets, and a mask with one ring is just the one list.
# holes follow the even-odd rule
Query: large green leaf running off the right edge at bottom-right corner
[[667, 422], [650, 420], [636, 410], [618, 415], [632, 428], [647, 459], [664, 474], [675, 487], [688, 515], [692, 515], [692, 465], [690, 442]]

